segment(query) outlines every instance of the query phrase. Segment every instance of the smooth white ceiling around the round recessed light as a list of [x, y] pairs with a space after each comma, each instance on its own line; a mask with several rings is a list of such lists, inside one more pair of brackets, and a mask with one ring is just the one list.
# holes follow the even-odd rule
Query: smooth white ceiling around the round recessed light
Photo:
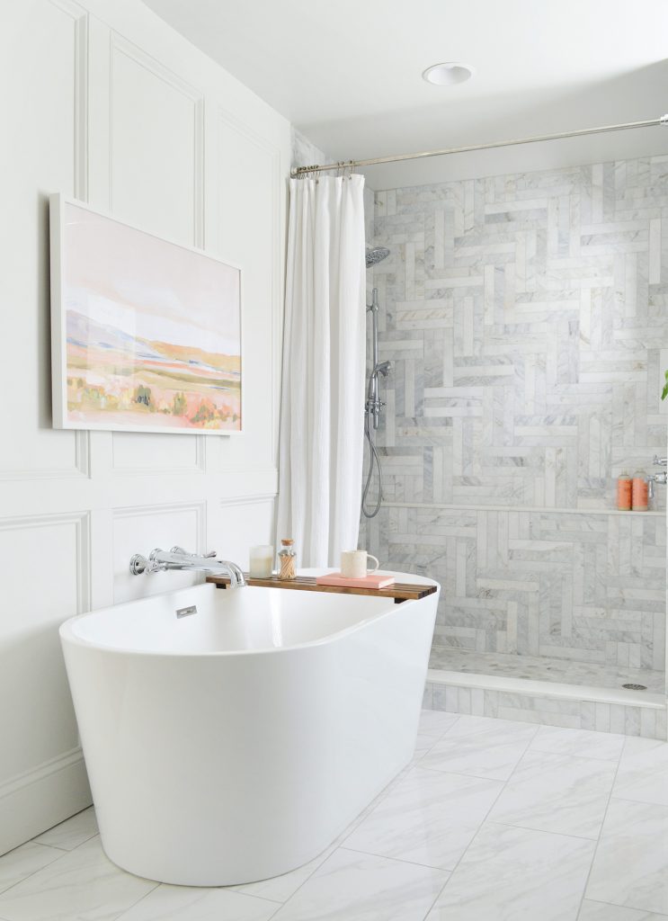
[[[144, 0], [333, 159], [668, 111], [666, 0]], [[476, 76], [434, 87], [441, 61]], [[668, 152], [668, 128], [366, 170], [375, 189]]]

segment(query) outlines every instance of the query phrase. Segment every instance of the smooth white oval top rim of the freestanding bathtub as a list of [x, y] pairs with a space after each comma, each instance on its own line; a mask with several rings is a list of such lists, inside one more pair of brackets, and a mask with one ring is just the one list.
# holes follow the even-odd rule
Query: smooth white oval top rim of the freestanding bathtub
[[[319, 576], [330, 571], [328, 568], [309, 568], [309, 569], [300, 569], [299, 574], [304, 576]], [[108, 613], [110, 614], [113, 611], [121, 611], [124, 608], [129, 607], [130, 605], [137, 604], [142, 601], [150, 601], [152, 598], [162, 598], [165, 595], [177, 594], [180, 592], [188, 592], [193, 589], [202, 589], [206, 586], [211, 586], [213, 591], [221, 591], [230, 589], [219, 589], [217, 586], [213, 585], [211, 582], [203, 582], [201, 584], [187, 586], [182, 589], [171, 589], [164, 592], [155, 592], [155, 595], [146, 595], [144, 598], [133, 599], [132, 601], [122, 601], [120, 604], [110, 604], [103, 608], [93, 609], [92, 611], [82, 612], [80, 614], [75, 614], [72, 617], [68, 617], [67, 620], [63, 621], [63, 624], [58, 628], [58, 635], [60, 636], [61, 643], [67, 643], [68, 645], [75, 647], [83, 647], [86, 649], [94, 649], [98, 652], [109, 653], [111, 655], [122, 655], [122, 656], [140, 656], [140, 657], [151, 657], [160, 658], [160, 659], [227, 659], [229, 657], [248, 657], [248, 656], [259, 656], [259, 655], [275, 655], [279, 653], [287, 652], [297, 652], [302, 649], [309, 649], [314, 647], [326, 646], [330, 643], [337, 642], [344, 637], [351, 635], [357, 631], [362, 630], [364, 627], [369, 624], [374, 624], [385, 618], [388, 614], [394, 613], [397, 610], [397, 607], [400, 607], [404, 612], [407, 607], [412, 608], [414, 605], [419, 604], [421, 601], [425, 601], [431, 598], [434, 598], [436, 601], [440, 596], [441, 584], [436, 582], [432, 578], [425, 576], [417, 576], [411, 573], [395, 572], [391, 570], [380, 570], [383, 575], [394, 576], [394, 577], [409, 577], [415, 579], [415, 581], [420, 585], [433, 585], [436, 587], [436, 592], [432, 595], [427, 595], [425, 598], [421, 599], [407, 599], [401, 601], [400, 605], [394, 603], [393, 599], [387, 599], [387, 609], [375, 613], [369, 617], [365, 617], [363, 620], [357, 621], [355, 624], [350, 624], [349, 626], [343, 627], [341, 630], [337, 630], [335, 633], [330, 633], [325, 636], [320, 636], [314, 640], [307, 640], [304, 643], [294, 643], [291, 646], [284, 647], [261, 647], [261, 648], [250, 648], [250, 649], [209, 649], [203, 650], [202, 652], [183, 652], [178, 649], [175, 650], [166, 650], [166, 649], [132, 649], [128, 647], [120, 646], [111, 646], [104, 645], [99, 642], [94, 642], [87, 640], [75, 634], [75, 625], [80, 623], [84, 618], [89, 617], [92, 614]], [[260, 588], [263, 591], [289, 591], [290, 589], [270, 589], [264, 588], [261, 586], [251, 587], [251, 588]], [[233, 589], [236, 590], [236, 589]], [[315, 593], [317, 594], [317, 593]], [[330, 594], [330, 593], [328, 593]], [[344, 598], [350, 596], [341, 593]], [[355, 595], [354, 598], [363, 598], [366, 596]], [[380, 599], [374, 599], [380, 600]]]

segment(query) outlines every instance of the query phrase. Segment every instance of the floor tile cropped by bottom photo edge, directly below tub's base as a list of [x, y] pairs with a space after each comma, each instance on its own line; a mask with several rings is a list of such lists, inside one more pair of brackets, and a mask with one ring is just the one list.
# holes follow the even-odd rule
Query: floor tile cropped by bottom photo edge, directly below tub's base
[[276, 902], [227, 889], [161, 885], [118, 921], [269, 921], [278, 907]]

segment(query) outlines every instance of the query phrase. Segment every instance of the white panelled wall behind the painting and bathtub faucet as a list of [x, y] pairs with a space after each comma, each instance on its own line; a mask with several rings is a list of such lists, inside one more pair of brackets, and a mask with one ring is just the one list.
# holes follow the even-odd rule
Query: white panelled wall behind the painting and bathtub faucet
[[[0, 8], [0, 852], [89, 802], [57, 626], [271, 540], [290, 126], [138, 0]], [[48, 205], [62, 191], [244, 270], [241, 437], [53, 431]]]

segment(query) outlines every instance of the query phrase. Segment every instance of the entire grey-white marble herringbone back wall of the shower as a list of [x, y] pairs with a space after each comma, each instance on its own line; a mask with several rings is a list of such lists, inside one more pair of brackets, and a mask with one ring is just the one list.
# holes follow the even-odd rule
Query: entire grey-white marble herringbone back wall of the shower
[[666, 454], [668, 157], [378, 192], [373, 243], [369, 549], [441, 579], [438, 646], [662, 669], [664, 516], [606, 512]]

